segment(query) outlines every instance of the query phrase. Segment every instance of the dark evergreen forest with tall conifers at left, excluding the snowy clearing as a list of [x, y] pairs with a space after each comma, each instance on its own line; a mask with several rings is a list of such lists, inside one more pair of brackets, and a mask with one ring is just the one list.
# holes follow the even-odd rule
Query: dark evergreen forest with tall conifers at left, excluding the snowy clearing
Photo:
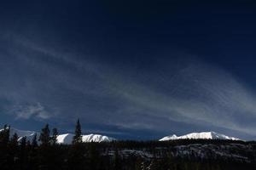
[[[201, 159], [195, 156], [173, 156], [177, 144], [251, 144], [253, 153], [256, 144], [224, 140], [174, 140], [113, 141], [110, 143], [83, 143], [79, 120], [76, 123], [72, 144], [57, 144], [58, 130], [51, 131], [46, 124], [39, 136], [19, 139], [17, 133], [10, 136], [10, 127], [5, 125], [0, 132], [1, 170], [236, 170], [255, 169], [255, 155], [251, 162], [216, 159]], [[148, 150], [152, 157], [123, 153], [124, 150]], [[238, 152], [239, 150], [234, 150]], [[245, 150], [241, 150], [245, 151]]]

